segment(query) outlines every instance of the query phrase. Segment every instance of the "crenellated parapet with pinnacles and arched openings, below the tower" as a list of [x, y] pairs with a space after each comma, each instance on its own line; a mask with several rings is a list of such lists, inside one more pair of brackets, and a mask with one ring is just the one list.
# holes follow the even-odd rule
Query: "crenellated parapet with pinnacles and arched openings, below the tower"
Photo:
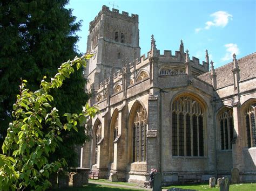
[[[151, 66], [152, 58], [156, 58], [155, 60], [157, 60], [157, 62], [153, 63], [154, 70], [152, 70]], [[198, 76], [208, 72], [208, 65], [208, 58], [206, 61], [203, 61], [202, 64], [199, 59], [194, 56], [192, 56], [191, 59], [188, 50], [184, 52], [184, 44], [182, 40], [179, 51], [175, 51], [175, 55], [172, 55], [172, 51], [169, 50], [164, 50], [164, 54], [160, 54], [160, 51], [156, 48], [156, 41], [152, 36], [151, 50], [147, 52], [147, 56], [143, 54], [140, 58], [137, 58], [130, 63], [123, 63], [122, 69], [108, 74], [109, 76], [100, 82], [99, 86], [96, 88], [96, 97], [102, 96], [103, 100], [104, 98], [107, 99], [106, 92], [110, 92], [109, 90], [111, 90], [111, 95], [109, 95], [109, 97], [115, 95], [125, 97], [127, 89], [137, 85], [140, 86], [140, 83], [145, 80], [156, 79], [153, 76]], [[158, 84], [157, 81], [158, 80], [156, 79], [154, 85]], [[98, 99], [98, 101], [100, 101], [100, 99]]]

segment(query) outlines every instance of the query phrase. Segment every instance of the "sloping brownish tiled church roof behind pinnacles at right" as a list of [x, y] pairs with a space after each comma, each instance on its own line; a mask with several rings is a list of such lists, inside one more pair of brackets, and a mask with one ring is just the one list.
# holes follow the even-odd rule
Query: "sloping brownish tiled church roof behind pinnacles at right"
[[[256, 77], [256, 52], [247, 55], [237, 61], [238, 68], [240, 69], [240, 81]], [[215, 69], [217, 88], [223, 88], [234, 83], [232, 69], [233, 62], [227, 63], [226, 65]], [[207, 72], [205, 74], [198, 76], [198, 78], [211, 84], [210, 75], [211, 72]]]

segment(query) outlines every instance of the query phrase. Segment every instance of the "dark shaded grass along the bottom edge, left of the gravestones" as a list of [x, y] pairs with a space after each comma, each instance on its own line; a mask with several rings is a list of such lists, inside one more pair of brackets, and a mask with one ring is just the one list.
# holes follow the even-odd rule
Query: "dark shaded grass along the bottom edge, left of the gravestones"
[[62, 191], [96, 191], [96, 190], [99, 190], [99, 191], [120, 191], [120, 190], [140, 190], [140, 189], [129, 189], [129, 188], [118, 188], [118, 187], [112, 187], [112, 186], [106, 186], [106, 185], [95, 185], [93, 183], [89, 183], [89, 185], [85, 185], [83, 187], [77, 187], [77, 188], [66, 188], [66, 189], [55, 189], [55, 191], [59, 191], [59, 190], [62, 190]]

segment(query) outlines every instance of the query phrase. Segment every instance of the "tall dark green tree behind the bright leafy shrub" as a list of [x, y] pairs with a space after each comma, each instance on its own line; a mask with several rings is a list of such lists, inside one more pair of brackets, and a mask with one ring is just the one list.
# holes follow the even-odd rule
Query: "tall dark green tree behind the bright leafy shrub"
[[[2, 0], [0, 2], [0, 133], [6, 136], [6, 129], [12, 120], [12, 104], [15, 102], [19, 79], [29, 79], [29, 88], [38, 89], [44, 75], [51, 77], [60, 63], [77, 55], [75, 44], [80, 22], [72, 16], [72, 10], [65, 9], [68, 0]], [[60, 115], [64, 112], [78, 112], [86, 103], [83, 70], [70, 77], [58, 92], [52, 90]], [[64, 133], [65, 134], [65, 133]], [[65, 139], [62, 151], [69, 153], [70, 165], [75, 156], [72, 146], [85, 141], [82, 130], [71, 130]], [[71, 141], [72, 140], [72, 141]], [[3, 139], [0, 139], [0, 146]], [[63, 151], [64, 150], [64, 151]], [[64, 156], [66, 158], [66, 156]], [[53, 159], [54, 160], [54, 159]]]

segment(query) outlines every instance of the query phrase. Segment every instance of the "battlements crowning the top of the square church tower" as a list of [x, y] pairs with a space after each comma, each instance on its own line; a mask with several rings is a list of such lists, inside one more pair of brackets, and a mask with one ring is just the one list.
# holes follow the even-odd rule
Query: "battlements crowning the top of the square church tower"
[[111, 11], [108, 6], [103, 5], [102, 10], [99, 11], [99, 13], [95, 17], [95, 19], [90, 22], [90, 27], [89, 27], [90, 31], [98, 23], [98, 21], [102, 18], [103, 14], [109, 15], [111, 17], [118, 17], [120, 19], [129, 20], [130, 22], [137, 22], [137, 23], [139, 22], [139, 16], [137, 14], [131, 14], [131, 16], [129, 16], [129, 12], [122, 11], [122, 13], [119, 13], [119, 10], [114, 9], [114, 8]]

